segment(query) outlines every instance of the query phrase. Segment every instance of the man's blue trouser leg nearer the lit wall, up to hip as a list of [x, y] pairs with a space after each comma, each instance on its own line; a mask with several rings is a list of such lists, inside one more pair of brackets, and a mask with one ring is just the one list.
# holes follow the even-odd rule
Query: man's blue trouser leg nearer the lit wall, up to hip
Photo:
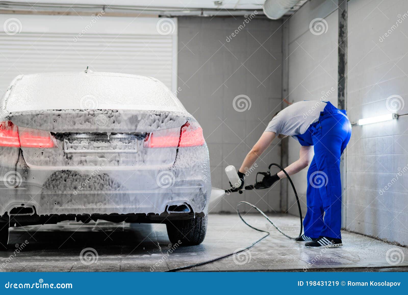
[[325, 212], [320, 233], [324, 237], [341, 239], [340, 155], [350, 139], [348, 126], [347, 118], [333, 115], [319, 122], [313, 136], [317, 169], [324, 176], [324, 184], [318, 184]]

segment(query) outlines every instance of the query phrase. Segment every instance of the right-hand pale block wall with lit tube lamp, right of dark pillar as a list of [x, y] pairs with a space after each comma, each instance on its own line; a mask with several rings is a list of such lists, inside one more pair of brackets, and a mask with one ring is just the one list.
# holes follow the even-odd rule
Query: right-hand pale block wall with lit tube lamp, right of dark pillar
[[[348, 2], [350, 121], [408, 113], [407, 11], [406, 0]], [[400, 96], [394, 105], [390, 95]], [[408, 116], [353, 126], [346, 154], [350, 231], [408, 245], [407, 129]]]

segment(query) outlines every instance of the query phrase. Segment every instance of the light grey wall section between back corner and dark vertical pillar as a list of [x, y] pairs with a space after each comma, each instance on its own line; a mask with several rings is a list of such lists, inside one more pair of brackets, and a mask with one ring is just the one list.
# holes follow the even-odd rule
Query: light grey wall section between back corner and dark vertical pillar
[[[309, 29], [315, 18], [317, 29]], [[333, 1], [306, 2], [288, 20], [288, 98], [289, 102], [325, 100], [337, 106], [337, 35], [338, 12]], [[319, 31], [319, 28], [323, 31]], [[300, 144], [289, 138], [288, 162], [299, 159]], [[307, 169], [293, 175], [297, 193], [306, 213]], [[288, 212], [299, 214], [295, 195], [288, 189]]]

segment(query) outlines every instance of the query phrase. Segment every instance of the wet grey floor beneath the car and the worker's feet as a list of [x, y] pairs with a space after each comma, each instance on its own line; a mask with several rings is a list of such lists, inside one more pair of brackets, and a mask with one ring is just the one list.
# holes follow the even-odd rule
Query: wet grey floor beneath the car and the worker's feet
[[[274, 214], [271, 219], [297, 235], [298, 217]], [[408, 271], [406, 247], [345, 231], [342, 248], [309, 249], [261, 215], [248, 214], [246, 220], [271, 235], [248, 251], [186, 271]], [[0, 251], [0, 271], [166, 271], [237, 251], [264, 234], [234, 214], [211, 214], [208, 222], [199, 246], [171, 245], [164, 224], [98, 221], [11, 228], [11, 250]]]

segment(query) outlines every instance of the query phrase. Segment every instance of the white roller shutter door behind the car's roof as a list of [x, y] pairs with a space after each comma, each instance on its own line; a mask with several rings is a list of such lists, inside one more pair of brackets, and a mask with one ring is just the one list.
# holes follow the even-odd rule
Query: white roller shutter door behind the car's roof
[[177, 89], [177, 19], [0, 14], [0, 24], [1, 95], [17, 75], [87, 66]]

